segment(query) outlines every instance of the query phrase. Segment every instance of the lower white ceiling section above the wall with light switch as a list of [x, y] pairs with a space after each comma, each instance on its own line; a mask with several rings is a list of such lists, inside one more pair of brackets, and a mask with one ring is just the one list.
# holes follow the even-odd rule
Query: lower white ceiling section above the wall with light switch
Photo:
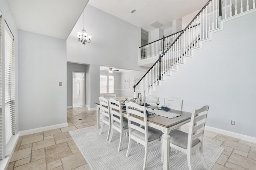
[[18, 29], [67, 39], [89, 0], [7, 0]]

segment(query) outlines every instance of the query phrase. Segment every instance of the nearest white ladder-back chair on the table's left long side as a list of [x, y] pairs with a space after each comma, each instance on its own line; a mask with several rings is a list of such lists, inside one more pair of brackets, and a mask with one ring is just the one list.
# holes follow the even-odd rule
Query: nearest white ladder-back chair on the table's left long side
[[[143, 111], [143, 113], [141, 113]], [[131, 150], [132, 139], [137, 143], [140, 143], [145, 147], [145, 156], [144, 156], [144, 164], [143, 170], [146, 168], [146, 161], [148, 156], [148, 146], [160, 141], [160, 137], [162, 136], [162, 131], [154, 129], [152, 127], [148, 127], [147, 123], [147, 115], [146, 115], [146, 107], [140, 106], [133, 102], [126, 103], [126, 113], [128, 117], [128, 125], [129, 125], [129, 143], [128, 149], [126, 153], [126, 157], [129, 156]], [[134, 117], [133, 115], [137, 116]], [[138, 125], [134, 125], [131, 122], [138, 123]]]

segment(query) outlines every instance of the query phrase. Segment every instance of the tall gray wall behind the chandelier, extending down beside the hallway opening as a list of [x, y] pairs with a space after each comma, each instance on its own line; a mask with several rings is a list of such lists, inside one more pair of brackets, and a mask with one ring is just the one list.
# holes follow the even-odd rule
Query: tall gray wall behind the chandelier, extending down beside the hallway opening
[[[67, 39], [67, 60], [71, 63], [90, 64], [86, 77], [86, 104], [96, 107], [100, 96], [100, 65], [128, 70], [146, 70], [138, 66], [138, 47], [140, 47], [140, 27], [120, 20], [93, 6], [85, 8], [86, 31], [92, 35], [92, 42], [82, 45], [74, 27]], [[83, 22], [78, 20], [78, 22]], [[90, 74], [90, 75], [89, 75]]]

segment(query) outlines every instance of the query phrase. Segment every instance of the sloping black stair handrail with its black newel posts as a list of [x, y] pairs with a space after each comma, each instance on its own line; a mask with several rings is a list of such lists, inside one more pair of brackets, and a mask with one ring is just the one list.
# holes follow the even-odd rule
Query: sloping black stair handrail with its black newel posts
[[[150, 67], [150, 69], [144, 74], [144, 76], [142, 76], [142, 78], [136, 83], [134, 84], [133, 88], [134, 88], [134, 92], [135, 92], [135, 88], [136, 86], [143, 80], [143, 78], [146, 76], [146, 74], [148, 74], [148, 72], [156, 65], [156, 63], [161, 63], [161, 59], [162, 57], [167, 53], [167, 51], [172, 47], [172, 45], [174, 45], [174, 43], [180, 38], [180, 36], [184, 33], [184, 31], [186, 31], [186, 29], [189, 29], [188, 27], [190, 26], [190, 24], [192, 22], [194, 22], [194, 20], [201, 14], [201, 12], [208, 6], [208, 4], [211, 2], [212, 0], [208, 0], [208, 2], [204, 5], [204, 7], [198, 12], [198, 14], [196, 14], [196, 16], [190, 21], [190, 23], [188, 23], [188, 25], [181, 31], [181, 33], [178, 35], [178, 37], [170, 44], [170, 46], [166, 49], [166, 51], [163, 51], [162, 55], [159, 55], [159, 59]], [[219, 9], [221, 10], [221, 0], [219, 0]], [[221, 12], [219, 13], [219, 16], [221, 16]], [[160, 68], [160, 67], [159, 67]], [[161, 80], [161, 72], [159, 74], [159, 78], [158, 80]]]

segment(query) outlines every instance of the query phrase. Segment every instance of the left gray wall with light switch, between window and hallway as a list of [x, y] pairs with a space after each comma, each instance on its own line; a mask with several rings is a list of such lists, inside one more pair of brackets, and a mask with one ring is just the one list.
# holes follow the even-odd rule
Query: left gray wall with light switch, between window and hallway
[[66, 123], [66, 41], [19, 30], [18, 49], [19, 130]]

